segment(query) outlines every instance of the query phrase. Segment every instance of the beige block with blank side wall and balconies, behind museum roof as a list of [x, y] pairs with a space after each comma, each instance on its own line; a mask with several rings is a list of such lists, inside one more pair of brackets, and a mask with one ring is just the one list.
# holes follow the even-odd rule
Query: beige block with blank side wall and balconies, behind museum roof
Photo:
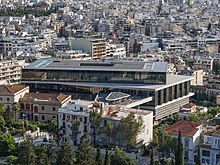
[[70, 38], [69, 44], [72, 50], [89, 53], [93, 59], [100, 59], [106, 55], [105, 38]]

